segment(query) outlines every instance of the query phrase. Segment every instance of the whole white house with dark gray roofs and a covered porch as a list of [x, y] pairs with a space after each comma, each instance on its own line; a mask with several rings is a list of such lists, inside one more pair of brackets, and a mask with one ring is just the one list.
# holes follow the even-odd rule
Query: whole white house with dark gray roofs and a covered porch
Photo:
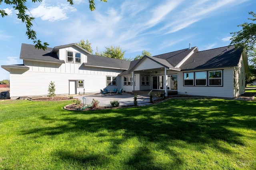
[[125, 61], [90, 54], [76, 44], [35, 49], [22, 44], [23, 64], [1, 66], [10, 72], [10, 97], [99, 93], [100, 89], [162, 90], [163, 94], [234, 98], [245, 92], [248, 62], [234, 46], [199, 51], [197, 47]]

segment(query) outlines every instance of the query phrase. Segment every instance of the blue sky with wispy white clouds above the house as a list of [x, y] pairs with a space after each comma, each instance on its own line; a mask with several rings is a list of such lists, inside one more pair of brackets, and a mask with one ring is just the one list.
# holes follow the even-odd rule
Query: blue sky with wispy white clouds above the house
[[[256, 12], [256, 0], [95, 0], [96, 10], [89, 10], [88, 0], [43, 0], [26, 6], [35, 18], [33, 28], [38, 39], [48, 47], [92, 43], [95, 53], [105, 47], [120, 46], [126, 58], [143, 50], [159, 55], [186, 49], [191, 43], [200, 51], [229, 45], [230, 32], [239, 31]], [[27, 39], [25, 24], [16, 18], [12, 6], [0, 5], [9, 16], [0, 18], [0, 65], [22, 64], [22, 43]], [[0, 80], [9, 72], [0, 68]]]

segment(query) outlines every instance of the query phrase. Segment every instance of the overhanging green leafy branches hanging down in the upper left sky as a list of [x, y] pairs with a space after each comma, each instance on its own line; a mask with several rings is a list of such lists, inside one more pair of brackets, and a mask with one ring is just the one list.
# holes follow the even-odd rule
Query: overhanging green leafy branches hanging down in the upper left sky
[[[3, 0], [0, 0], [0, 4]], [[100, 0], [103, 2], [107, 2], [107, 0]], [[42, 2], [42, 0], [32, 0], [32, 2]], [[67, 0], [67, 2], [70, 3], [70, 5], [73, 5], [73, 0]], [[33, 43], [35, 44], [35, 48], [46, 50], [48, 43], [40, 41], [40, 39], [37, 39], [36, 37], [36, 31], [32, 29], [32, 21], [35, 19], [34, 17], [27, 14], [28, 8], [26, 6], [26, 0], [4, 0], [4, 3], [11, 5], [14, 10], [18, 11], [17, 18], [21, 20], [26, 25], [26, 35], [28, 36], [28, 39], [31, 39]], [[91, 11], [95, 10], [95, 4], [94, 0], [89, 0], [89, 8]], [[0, 10], [0, 15], [4, 18], [5, 16], [8, 16], [8, 14], [4, 10]]]

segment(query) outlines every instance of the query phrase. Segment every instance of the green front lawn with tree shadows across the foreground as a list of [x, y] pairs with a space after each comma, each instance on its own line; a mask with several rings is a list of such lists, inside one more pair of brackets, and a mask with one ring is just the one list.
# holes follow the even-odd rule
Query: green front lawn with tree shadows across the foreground
[[62, 109], [71, 102], [0, 102], [0, 169], [256, 169], [255, 101]]

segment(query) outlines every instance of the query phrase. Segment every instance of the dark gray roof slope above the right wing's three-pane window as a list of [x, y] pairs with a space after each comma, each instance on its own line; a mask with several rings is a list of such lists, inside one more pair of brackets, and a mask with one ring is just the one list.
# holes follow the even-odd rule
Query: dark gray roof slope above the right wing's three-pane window
[[199, 51], [192, 54], [180, 68], [181, 70], [192, 70], [237, 66], [241, 54], [242, 50], [235, 49], [234, 45]]

